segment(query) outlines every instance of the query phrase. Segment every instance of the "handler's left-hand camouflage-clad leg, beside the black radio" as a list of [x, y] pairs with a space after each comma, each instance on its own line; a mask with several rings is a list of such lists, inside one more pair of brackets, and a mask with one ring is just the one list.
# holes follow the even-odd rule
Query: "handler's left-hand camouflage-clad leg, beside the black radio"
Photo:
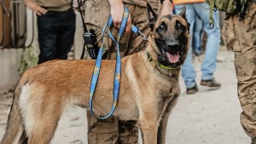
[[[85, 1], [85, 25], [96, 31], [97, 42], [101, 43], [102, 27], [107, 23], [110, 14], [108, 0]], [[104, 58], [108, 58], [109, 43], [108, 31], [104, 37]], [[106, 56], [107, 55], [107, 56]], [[90, 59], [87, 55], [86, 59]], [[95, 118], [90, 110], [87, 110], [88, 119], [88, 144], [115, 144], [118, 136], [118, 120], [108, 118], [99, 120]]]

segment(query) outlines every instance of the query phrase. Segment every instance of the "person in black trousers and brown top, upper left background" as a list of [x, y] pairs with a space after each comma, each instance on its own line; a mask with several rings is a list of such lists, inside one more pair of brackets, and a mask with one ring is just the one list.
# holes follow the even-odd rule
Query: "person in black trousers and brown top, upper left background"
[[75, 19], [72, 0], [24, 0], [38, 15], [39, 60], [66, 60], [73, 46]]

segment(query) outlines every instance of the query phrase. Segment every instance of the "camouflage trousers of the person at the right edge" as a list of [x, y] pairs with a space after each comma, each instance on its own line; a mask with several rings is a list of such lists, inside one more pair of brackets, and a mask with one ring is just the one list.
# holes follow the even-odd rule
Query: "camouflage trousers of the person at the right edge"
[[249, 2], [245, 20], [238, 15], [224, 20], [222, 34], [227, 49], [235, 52], [237, 93], [241, 103], [241, 125], [256, 136], [256, 3]]

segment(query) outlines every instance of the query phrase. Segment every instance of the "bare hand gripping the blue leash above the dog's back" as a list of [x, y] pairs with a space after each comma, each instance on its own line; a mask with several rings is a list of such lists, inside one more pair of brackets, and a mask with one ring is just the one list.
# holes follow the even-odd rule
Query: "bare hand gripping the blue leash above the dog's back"
[[[113, 19], [113, 26], [119, 29], [125, 10], [124, 3], [122, 0], [108, 0], [108, 2], [110, 3], [110, 14]], [[129, 14], [128, 17], [125, 32], [131, 32], [131, 14]]]

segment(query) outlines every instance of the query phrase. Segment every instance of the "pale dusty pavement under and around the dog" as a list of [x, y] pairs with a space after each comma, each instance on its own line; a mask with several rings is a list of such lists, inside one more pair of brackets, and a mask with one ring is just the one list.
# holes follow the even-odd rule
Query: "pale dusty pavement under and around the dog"
[[[181, 95], [168, 121], [166, 144], [250, 144], [240, 124], [233, 53], [224, 48], [219, 50], [214, 77], [222, 84], [220, 89], [200, 85], [202, 58], [203, 55], [194, 59], [199, 86], [195, 95], [186, 95], [180, 78]], [[12, 95], [11, 91], [0, 95], [0, 138], [6, 127]], [[67, 107], [51, 143], [87, 144], [86, 119], [83, 108]]]

